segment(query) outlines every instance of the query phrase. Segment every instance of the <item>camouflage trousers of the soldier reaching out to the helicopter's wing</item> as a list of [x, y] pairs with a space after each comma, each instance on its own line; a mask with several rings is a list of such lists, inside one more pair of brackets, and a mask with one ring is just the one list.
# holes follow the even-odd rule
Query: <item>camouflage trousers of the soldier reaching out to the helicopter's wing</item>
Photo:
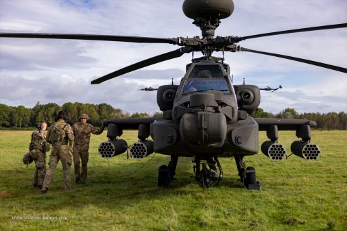
[[[81, 151], [80, 148], [73, 147], [73, 167], [75, 168], [76, 183], [86, 181], [88, 159], [89, 159], [88, 151]], [[82, 171], [80, 171], [81, 162], [82, 162]]]

